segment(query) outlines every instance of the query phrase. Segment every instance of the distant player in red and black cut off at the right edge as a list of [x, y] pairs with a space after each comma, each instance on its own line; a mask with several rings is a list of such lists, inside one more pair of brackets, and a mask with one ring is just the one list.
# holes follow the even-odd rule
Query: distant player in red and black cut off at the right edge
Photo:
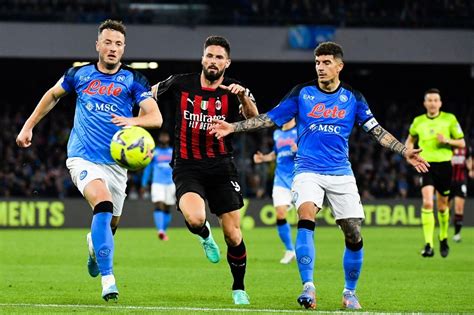
[[464, 218], [464, 203], [467, 198], [468, 176], [474, 178], [472, 169], [472, 152], [469, 147], [453, 150], [453, 177], [451, 184], [451, 199], [454, 199], [454, 236], [453, 241], [461, 241], [461, 228]]

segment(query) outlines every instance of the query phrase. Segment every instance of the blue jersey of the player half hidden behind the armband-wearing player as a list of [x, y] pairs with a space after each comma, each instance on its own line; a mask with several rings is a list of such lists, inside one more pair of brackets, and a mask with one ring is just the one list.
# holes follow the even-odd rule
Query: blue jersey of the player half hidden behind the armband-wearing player
[[297, 137], [296, 127], [288, 130], [277, 129], [273, 132], [274, 151], [276, 154], [273, 186], [291, 189], [296, 154], [296, 152], [291, 150], [291, 147], [296, 144]]

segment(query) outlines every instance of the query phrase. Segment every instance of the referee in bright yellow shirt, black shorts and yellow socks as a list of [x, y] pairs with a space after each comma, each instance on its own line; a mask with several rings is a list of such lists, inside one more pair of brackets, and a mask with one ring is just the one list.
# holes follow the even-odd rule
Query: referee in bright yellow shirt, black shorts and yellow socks
[[438, 89], [425, 92], [423, 105], [426, 114], [415, 117], [405, 142], [407, 148], [414, 148], [415, 142], [423, 150], [420, 155], [427, 160], [430, 171], [423, 174], [421, 179], [421, 224], [425, 238], [425, 247], [421, 251], [423, 257], [433, 257], [433, 234], [435, 218], [433, 214], [434, 193], [436, 191], [436, 206], [439, 221], [440, 254], [449, 254], [449, 195], [451, 192], [453, 148], [464, 148], [464, 134], [453, 114], [442, 112], [441, 94]]

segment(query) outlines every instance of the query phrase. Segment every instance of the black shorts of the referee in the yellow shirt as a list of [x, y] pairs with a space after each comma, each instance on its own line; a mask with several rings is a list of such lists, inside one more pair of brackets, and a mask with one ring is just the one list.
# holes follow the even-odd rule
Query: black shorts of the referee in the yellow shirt
[[421, 187], [434, 186], [442, 195], [449, 196], [451, 193], [451, 176], [453, 167], [451, 162], [430, 162], [428, 173], [421, 176]]

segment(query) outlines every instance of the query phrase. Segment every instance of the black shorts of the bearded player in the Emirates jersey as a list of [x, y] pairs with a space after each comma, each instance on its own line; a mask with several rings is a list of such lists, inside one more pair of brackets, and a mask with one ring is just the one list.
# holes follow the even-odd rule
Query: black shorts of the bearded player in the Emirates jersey
[[202, 161], [178, 159], [173, 167], [173, 181], [178, 205], [181, 196], [195, 192], [207, 200], [211, 213], [217, 216], [244, 206], [237, 168], [231, 157]]

